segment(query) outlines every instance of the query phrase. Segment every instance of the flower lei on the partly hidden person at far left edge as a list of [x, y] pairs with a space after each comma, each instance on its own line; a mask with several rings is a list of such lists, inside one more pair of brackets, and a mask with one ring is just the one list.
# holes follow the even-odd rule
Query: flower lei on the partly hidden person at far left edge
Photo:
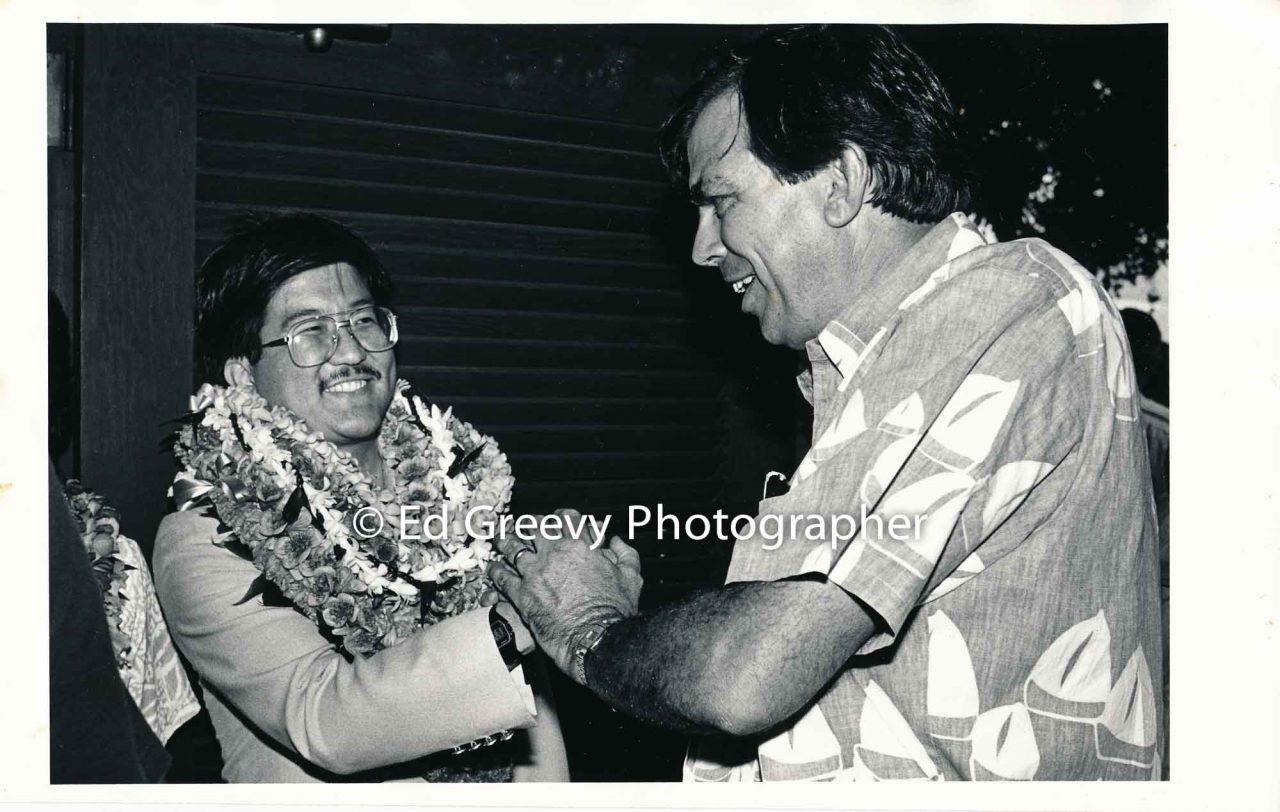
[[120, 519], [115, 508], [76, 479], [63, 484], [63, 494], [76, 517], [93, 580], [102, 593], [106, 630], [111, 637], [116, 667], [133, 665], [133, 642], [120, 626], [124, 608], [124, 581], [133, 567], [119, 555]]

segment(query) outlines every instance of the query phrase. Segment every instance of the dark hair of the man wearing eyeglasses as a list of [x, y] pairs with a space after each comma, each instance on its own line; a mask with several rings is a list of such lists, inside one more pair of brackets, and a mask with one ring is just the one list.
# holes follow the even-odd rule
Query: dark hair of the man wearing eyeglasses
[[250, 214], [232, 220], [228, 238], [196, 278], [196, 362], [201, 380], [227, 383], [228, 359], [261, 357], [266, 306], [280, 286], [315, 268], [346, 263], [387, 305], [393, 287], [369, 243], [346, 225], [315, 214]]

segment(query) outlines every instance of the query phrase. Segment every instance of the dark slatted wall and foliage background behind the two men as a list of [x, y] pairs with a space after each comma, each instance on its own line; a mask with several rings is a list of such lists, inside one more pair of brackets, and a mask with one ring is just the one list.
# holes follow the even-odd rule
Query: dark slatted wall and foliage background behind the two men
[[[150, 549], [228, 215], [343, 220], [399, 286], [402, 375], [494, 434], [517, 511], [750, 511], [806, 443], [794, 353], [689, 263], [658, 127], [756, 27], [50, 26], [51, 453]], [[961, 110], [979, 214], [1108, 280], [1167, 259], [1164, 26], [904, 27]], [[1046, 191], [1047, 190], [1047, 191]], [[1166, 361], [1162, 361], [1166, 362]], [[728, 547], [636, 539], [646, 605]], [[678, 780], [680, 736], [561, 681], [575, 780]], [[216, 780], [202, 720], [174, 780]]]

